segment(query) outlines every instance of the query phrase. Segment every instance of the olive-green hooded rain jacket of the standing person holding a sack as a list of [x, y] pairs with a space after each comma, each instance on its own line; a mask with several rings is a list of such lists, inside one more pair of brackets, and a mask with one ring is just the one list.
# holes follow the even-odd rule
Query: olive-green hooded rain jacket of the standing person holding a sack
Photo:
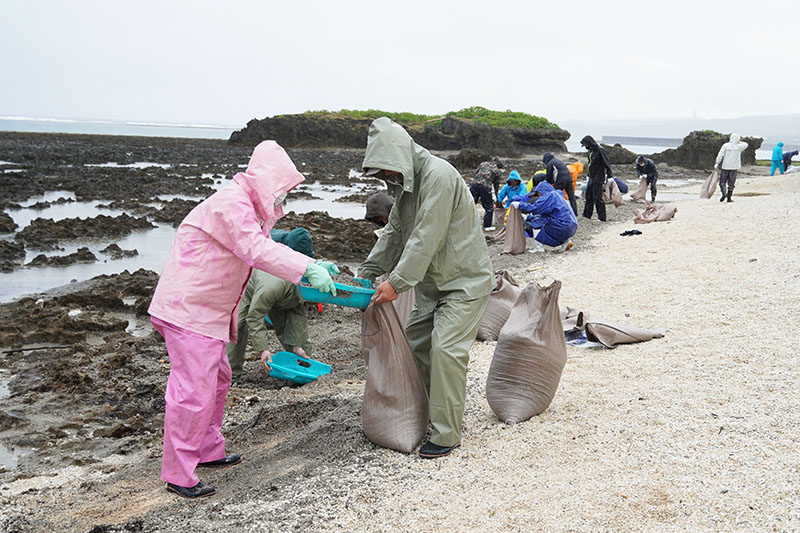
[[397, 292], [415, 288], [418, 308], [439, 298], [474, 300], [491, 292], [492, 263], [474, 201], [452, 165], [381, 117], [369, 127], [362, 167], [403, 175], [402, 186], [388, 185], [396, 201], [361, 265], [363, 277], [391, 272], [389, 282]]

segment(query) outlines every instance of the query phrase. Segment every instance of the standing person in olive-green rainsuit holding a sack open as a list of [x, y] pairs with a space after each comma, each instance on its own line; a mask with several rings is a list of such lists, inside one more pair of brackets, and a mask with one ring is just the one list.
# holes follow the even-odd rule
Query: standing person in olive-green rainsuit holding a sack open
[[386, 181], [395, 204], [359, 275], [389, 273], [376, 304], [414, 288], [406, 335], [428, 389], [432, 426], [419, 455], [442, 457], [461, 443], [469, 349], [494, 286], [486, 241], [461, 175], [399, 124], [372, 122], [362, 167]]

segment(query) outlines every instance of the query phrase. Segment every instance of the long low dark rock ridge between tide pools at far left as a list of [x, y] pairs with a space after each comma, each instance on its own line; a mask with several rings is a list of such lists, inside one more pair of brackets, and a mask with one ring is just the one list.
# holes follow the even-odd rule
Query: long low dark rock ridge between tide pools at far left
[[136, 229], [154, 228], [144, 217], [132, 217], [125, 213], [109, 217], [66, 218], [54, 222], [52, 218], [34, 219], [14, 238], [33, 247], [52, 246], [62, 240], [100, 239], [130, 235]]

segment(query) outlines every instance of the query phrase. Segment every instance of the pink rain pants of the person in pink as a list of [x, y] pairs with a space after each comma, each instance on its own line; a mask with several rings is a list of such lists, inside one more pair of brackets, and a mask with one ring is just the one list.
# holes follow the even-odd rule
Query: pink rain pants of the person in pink
[[200, 481], [197, 463], [225, 457], [220, 428], [231, 386], [227, 344], [155, 317], [150, 321], [164, 337], [170, 362], [161, 479], [194, 487]]

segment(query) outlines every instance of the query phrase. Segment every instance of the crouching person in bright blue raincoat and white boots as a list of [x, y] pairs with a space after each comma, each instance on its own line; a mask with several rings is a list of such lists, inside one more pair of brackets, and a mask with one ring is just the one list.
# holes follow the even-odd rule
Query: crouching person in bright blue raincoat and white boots
[[534, 236], [535, 247], [531, 252], [543, 252], [545, 245], [559, 247], [560, 251], [572, 248], [571, 238], [578, 230], [578, 218], [561, 191], [543, 181], [531, 195], [517, 196], [511, 205], [529, 213], [524, 225]]

